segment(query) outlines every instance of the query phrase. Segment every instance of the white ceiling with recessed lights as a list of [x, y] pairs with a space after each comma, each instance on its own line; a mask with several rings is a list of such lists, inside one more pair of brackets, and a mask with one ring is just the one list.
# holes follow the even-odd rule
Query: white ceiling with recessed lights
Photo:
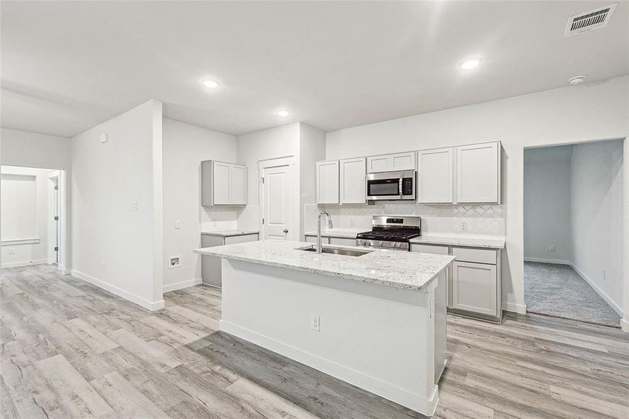
[[[330, 131], [596, 82], [629, 73], [629, 3], [605, 29], [563, 30], [605, 4], [2, 1], [1, 125], [72, 136], [155, 98], [225, 133]], [[471, 54], [484, 62], [464, 73]]]

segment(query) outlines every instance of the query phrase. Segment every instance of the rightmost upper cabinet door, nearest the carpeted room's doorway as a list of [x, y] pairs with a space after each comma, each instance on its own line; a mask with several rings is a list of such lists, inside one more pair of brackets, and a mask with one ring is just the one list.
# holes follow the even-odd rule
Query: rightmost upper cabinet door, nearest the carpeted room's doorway
[[457, 203], [500, 203], [499, 145], [457, 147]]

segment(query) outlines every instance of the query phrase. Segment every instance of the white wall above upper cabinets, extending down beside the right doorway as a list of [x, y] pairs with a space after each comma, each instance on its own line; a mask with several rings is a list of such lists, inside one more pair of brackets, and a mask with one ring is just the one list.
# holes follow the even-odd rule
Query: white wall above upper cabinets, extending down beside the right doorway
[[628, 98], [629, 77], [541, 91], [332, 131], [326, 134], [325, 155], [341, 159], [501, 141], [503, 301], [508, 310], [524, 311], [524, 147], [625, 138]]

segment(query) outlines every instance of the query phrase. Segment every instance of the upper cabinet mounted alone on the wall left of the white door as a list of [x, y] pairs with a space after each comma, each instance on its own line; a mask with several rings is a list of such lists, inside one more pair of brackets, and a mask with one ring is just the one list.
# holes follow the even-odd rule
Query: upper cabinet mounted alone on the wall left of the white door
[[246, 180], [246, 166], [202, 161], [201, 205], [246, 205]]

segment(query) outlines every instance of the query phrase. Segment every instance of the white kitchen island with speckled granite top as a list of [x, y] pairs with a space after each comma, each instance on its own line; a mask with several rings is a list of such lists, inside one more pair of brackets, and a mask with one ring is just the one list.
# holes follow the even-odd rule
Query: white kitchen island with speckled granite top
[[196, 249], [222, 258], [221, 330], [432, 415], [454, 256], [325, 248], [350, 255], [305, 242]]

